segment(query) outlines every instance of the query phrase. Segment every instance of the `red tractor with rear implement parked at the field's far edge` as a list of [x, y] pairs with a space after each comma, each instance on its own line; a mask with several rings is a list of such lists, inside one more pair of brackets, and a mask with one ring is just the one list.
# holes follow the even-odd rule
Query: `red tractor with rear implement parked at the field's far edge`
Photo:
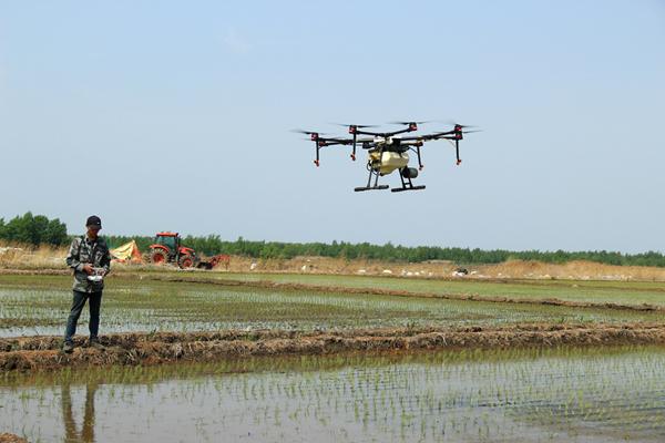
[[219, 264], [224, 264], [228, 268], [231, 261], [231, 257], [226, 255], [217, 255], [208, 261], [203, 261], [194, 249], [181, 245], [181, 237], [177, 233], [157, 233], [155, 243], [150, 245], [149, 257], [150, 261], [155, 265], [177, 264], [181, 269], [213, 269]]

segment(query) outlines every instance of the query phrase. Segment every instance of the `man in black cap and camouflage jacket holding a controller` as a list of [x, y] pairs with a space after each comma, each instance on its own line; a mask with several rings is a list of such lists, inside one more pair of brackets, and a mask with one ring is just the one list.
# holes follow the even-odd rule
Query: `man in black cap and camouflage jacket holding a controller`
[[103, 238], [99, 237], [102, 220], [96, 215], [88, 217], [85, 222], [88, 231], [84, 236], [76, 237], [66, 255], [66, 266], [74, 270], [74, 298], [72, 309], [66, 320], [64, 332], [64, 352], [74, 350], [74, 333], [85, 300], [90, 300], [90, 340], [89, 344], [101, 348], [98, 332], [100, 329], [100, 308], [102, 306], [103, 277], [111, 269], [111, 255]]

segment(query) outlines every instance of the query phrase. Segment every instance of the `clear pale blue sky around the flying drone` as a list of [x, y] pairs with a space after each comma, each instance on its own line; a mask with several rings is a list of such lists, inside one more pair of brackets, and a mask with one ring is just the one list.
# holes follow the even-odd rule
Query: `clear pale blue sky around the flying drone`
[[[3, 1], [0, 217], [665, 251], [664, 43], [655, 0]], [[411, 119], [483, 128], [459, 167], [426, 145], [419, 193], [289, 132]]]

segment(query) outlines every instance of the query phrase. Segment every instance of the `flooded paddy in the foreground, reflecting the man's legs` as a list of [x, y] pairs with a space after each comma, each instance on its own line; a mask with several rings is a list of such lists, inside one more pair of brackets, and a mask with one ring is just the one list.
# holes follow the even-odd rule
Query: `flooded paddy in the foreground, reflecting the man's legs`
[[31, 442], [658, 442], [665, 348], [245, 358], [4, 373]]

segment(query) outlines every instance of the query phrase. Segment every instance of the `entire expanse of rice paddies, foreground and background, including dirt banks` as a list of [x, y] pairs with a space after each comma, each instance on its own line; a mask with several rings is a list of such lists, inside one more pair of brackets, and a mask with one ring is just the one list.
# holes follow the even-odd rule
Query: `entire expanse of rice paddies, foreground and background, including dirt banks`
[[[102, 302], [108, 349], [81, 347], [69, 358], [58, 347], [70, 285], [69, 276], [0, 275], [0, 360], [58, 362], [0, 364], [0, 434], [31, 442], [665, 441], [658, 284], [119, 274]], [[649, 340], [636, 339], [641, 328]], [[600, 346], [608, 329], [621, 340]], [[543, 340], [529, 341], [542, 330]], [[550, 340], [582, 330], [574, 342], [583, 346]], [[366, 346], [382, 333], [388, 346]], [[516, 333], [530, 344], [508, 346]], [[345, 350], [352, 338], [365, 344]], [[409, 338], [421, 346], [406, 346]], [[141, 354], [103, 364], [132, 348], [161, 352], [160, 361], [178, 353], [168, 363]]]

